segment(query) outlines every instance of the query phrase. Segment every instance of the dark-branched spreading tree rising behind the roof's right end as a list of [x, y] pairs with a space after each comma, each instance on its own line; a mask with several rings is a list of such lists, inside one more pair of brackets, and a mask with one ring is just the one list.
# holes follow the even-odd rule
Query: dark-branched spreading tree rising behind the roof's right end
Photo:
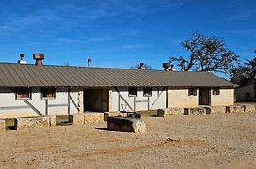
[[188, 58], [172, 56], [170, 61], [182, 71], [231, 73], [238, 63], [238, 55], [226, 48], [225, 42], [196, 32], [181, 45], [189, 51]]

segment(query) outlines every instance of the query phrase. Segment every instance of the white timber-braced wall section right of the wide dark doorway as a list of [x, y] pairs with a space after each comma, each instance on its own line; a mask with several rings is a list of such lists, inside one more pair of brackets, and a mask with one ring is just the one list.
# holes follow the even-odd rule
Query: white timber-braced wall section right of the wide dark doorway
[[[166, 90], [164, 87], [153, 87], [152, 96], [143, 96], [143, 88], [138, 87], [137, 96], [131, 97], [128, 93], [128, 88], [118, 88], [116, 91], [114, 88], [112, 90], [112, 111], [136, 111], [139, 110], [150, 110], [166, 108]], [[122, 96], [120, 97], [119, 94]], [[122, 99], [123, 98], [123, 99]], [[124, 101], [126, 100], [126, 102]]]

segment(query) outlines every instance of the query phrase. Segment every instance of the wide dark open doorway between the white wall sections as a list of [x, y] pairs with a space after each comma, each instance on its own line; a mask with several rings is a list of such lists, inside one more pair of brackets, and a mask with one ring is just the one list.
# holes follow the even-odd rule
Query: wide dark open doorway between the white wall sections
[[84, 111], [107, 112], [108, 89], [85, 89]]

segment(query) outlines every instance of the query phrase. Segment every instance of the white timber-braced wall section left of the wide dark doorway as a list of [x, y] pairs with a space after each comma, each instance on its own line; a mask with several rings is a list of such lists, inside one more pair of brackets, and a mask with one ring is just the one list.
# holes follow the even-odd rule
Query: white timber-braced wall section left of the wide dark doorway
[[[39, 116], [24, 100], [16, 100], [13, 89], [0, 88], [0, 118]], [[78, 90], [72, 89], [70, 96], [77, 105]], [[42, 115], [46, 114], [46, 100], [41, 98], [40, 88], [32, 88], [32, 104]], [[65, 105], [66, 104], [66, 105]], [[68, 89], [56, 89], [56, 98], [48, 100], [48, 115], [68, 115]], [[53, 106], [54, 105], [54, 106]], [[70, 101], [70, 110], [77, 113], [76, 106]]]

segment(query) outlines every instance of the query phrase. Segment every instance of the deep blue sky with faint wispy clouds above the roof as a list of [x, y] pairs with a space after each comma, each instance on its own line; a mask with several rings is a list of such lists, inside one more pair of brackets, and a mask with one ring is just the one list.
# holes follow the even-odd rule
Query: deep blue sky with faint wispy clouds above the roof
[[223, 38], [241, 59], [256, 49], [255, 0], [1, 0], [0, 62], [154, 69], [184, 55], [193, 32]]

